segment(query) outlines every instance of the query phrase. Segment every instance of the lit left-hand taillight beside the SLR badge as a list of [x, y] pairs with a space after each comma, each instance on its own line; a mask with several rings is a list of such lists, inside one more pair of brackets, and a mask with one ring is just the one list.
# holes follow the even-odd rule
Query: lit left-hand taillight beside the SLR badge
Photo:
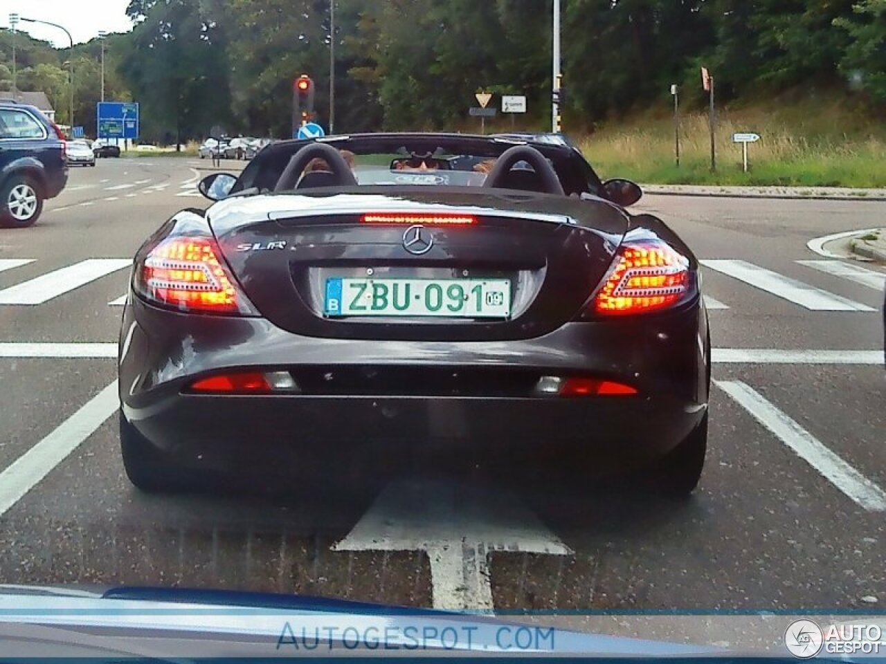
[[138, 268], [137, 290], [183, 312], [249, 313], [210, 237], [167, 237]]

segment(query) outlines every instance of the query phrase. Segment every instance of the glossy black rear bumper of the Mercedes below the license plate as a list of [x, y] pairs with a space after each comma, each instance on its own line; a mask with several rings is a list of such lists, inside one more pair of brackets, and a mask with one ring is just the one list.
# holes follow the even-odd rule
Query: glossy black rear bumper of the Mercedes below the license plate
[[[476, 461], [587, 473], [664, 455], [697, 426], [707, 408], [706, 338], [698, 305], [642, 325], [570, 323], [534, 339], [483, 344], [301, 337], [267, 320], [187, 316], [130, 296], [120, 400], [126, 420], [184, 467], [285, 475], [345, 463]], [[287, 370], [299, 380], [318, 367], [328, 367], [322, 375], [330, 381], [354, 367], [395, 375], [401, 369], [404, 384], [381, 394], [323, 394], [316, 384], [307, 394], [187, 392], [195, 379], [229, 369]], [[578, 374], [626, 382], [638, 394], [431, 393], [416, 379], [422, 367], [429, 374], [440, 367], [477, 375]]]

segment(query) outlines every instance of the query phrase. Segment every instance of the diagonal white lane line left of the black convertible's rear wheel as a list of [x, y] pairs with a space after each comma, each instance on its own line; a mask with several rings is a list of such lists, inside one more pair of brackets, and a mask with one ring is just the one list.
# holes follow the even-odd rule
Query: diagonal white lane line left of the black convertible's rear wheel
[[89, 438], [113, 415], [118, 404], [117, 382], [114, 381], [0, 473], [0, 515], [19, 502]]

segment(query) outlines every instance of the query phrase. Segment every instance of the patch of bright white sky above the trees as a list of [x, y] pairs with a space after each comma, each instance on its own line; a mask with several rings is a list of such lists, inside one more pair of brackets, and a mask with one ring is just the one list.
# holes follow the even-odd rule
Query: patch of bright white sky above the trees
[[[49, 20], [67, 28], [74, 43], [89, 42], [105, 32], [128, 32], [129, 0], [0, 0], [0, 26], [9, 27], [9, 15], [17, 12], [27, 19]], [[57, 47], [68, 45], [67, 36], [56, 27], [19, 23], [19, 30]]]

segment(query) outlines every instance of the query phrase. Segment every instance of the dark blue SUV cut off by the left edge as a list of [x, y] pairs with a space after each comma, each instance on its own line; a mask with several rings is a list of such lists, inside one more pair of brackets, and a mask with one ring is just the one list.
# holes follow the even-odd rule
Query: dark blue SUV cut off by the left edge
[[31, 226], [67, 183], [67, 143], [35, 106], [0, 102], [0, 224]]

